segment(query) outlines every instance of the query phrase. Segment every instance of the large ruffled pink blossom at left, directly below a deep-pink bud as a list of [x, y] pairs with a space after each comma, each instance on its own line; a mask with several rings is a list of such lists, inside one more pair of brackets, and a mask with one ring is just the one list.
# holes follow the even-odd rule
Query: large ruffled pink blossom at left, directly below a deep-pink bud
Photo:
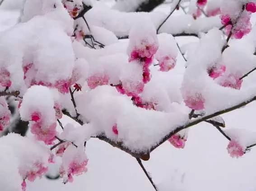
[[47, 145], [51, 145], [56, 139], [56, 122], [49, 126], [42, 126], [40, 122], [32, 122], [31, 133], [36, 135], [37, 140], [43, 141]]

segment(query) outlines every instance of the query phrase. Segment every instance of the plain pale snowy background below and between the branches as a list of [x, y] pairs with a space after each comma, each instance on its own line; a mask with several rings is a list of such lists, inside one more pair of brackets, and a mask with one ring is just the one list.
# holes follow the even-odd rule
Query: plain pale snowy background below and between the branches
[[[5, 0], [0, 7], [0, 31], [15, 25], [19, 18], [20, 0]], [[106, 4], [111, 6], [112, 1]], [[168, 4], [156, 9], [168, 13]], [[176, 12], [175, 14], [179, 14]], [[255, 15], [254, 15], [255, 17]], [[252, 22], [255, 18], [252, 19]], [[179, 44], [197, 40], [192, 37], [176, 38]], [[184, 72], [184, 60], [178, 56], [177, 73]], [[252, 74], [244, 83], [256, 80]], [[226, 128], [248, 129], [256, 132], [256, 103], [223, 115]], [[63, 124], [74, 123], [67, 117]], [[143, 162], [160, 191], [256, 191], [256, 148], [241, 158], [228, 155], [228, 140], [212, 125], [193, 126], [184, 149], [176, 149], [165, 142]], [[73, 183], [42, 178], [28, 182], [28, 191], [154, 191], [135, 158], [98, 139], [86, 145], [89, 158], [88, 172], [74, 178]], [[53, 167], [54, 173], [54, 167]]]

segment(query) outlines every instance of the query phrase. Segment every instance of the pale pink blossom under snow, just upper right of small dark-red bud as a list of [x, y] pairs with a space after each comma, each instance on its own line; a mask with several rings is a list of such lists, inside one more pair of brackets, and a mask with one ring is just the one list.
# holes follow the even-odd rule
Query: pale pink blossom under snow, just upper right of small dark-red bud
[[107, 85], [108, 80], [106, 74], [97, 73], [87, 79], [87, 84], [90, 89], [95, 89], [99, 85]]

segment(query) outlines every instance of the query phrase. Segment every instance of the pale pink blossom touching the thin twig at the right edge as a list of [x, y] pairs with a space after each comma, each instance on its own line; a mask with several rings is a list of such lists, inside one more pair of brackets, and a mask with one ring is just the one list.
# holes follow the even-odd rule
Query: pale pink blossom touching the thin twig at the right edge
[[229, 87], [233, 89], [241, 89], [242, 80], [239, 79], [240, 77], [234, 74], [230, 74], [227, 77], [223, 77], [219, 81], [219, 84], [223, 87]]

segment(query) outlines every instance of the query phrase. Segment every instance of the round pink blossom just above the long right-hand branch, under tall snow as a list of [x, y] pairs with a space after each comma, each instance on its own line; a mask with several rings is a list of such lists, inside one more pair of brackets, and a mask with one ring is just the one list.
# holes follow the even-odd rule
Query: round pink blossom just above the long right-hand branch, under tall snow
[[186, 96], [184, 102], [187, 107], [194, 110], [202, 110], [205, 108], [205, 99], [201, 93], [195, 93], [194, 95]]

